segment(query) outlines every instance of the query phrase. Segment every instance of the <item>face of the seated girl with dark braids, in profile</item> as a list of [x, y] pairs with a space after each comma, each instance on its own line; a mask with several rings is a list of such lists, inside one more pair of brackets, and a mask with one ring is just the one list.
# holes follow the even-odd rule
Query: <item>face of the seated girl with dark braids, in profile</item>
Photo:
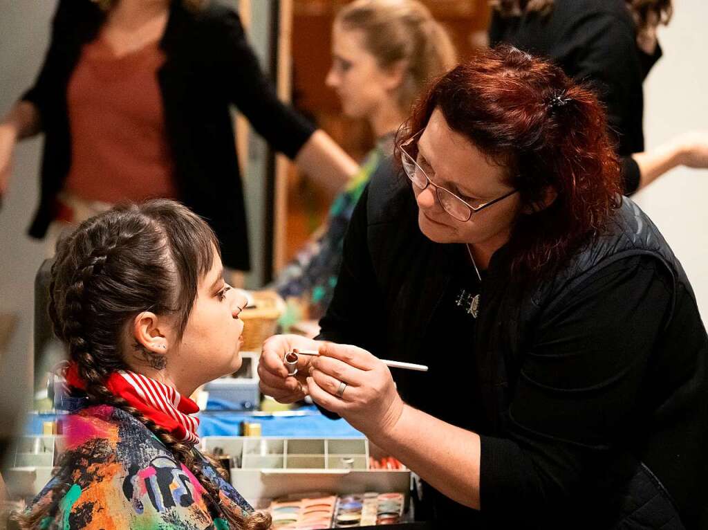
[[195, 387], [234, 373], [242, 362], [239, 350], [244, 342], [244, 322], [239, 313], [246, 307], [246, 296], [229, 286], [223, 274], [222, 261], [215, 252], [212, 269], [200, 278], [182, 339], [168, 354], [168, 371]]

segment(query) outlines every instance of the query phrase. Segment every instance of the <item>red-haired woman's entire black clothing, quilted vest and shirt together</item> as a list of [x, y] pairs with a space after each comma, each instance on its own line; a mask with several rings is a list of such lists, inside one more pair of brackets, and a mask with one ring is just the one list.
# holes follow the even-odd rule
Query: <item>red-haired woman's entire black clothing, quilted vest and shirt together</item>
[[[323, 339], [455, 371], [442, 390], [423, 377], [432, 372], [392, 371], [409, 403], [448, 416], [458, 406], [446, 421], [481, 435], [481, 513], [450, 501], [435, 517], [480, 529], [705, 528], [708, 337], [651, 220], [624, 198], [606, 235], [528, 288], [510, 281], [500, 249], [479, 317], [440, 329], [459, 247], [423, 236], [404, 176], [372, 179], [320, 322]], [[656, 281], [622, 276], [636, 266]]]

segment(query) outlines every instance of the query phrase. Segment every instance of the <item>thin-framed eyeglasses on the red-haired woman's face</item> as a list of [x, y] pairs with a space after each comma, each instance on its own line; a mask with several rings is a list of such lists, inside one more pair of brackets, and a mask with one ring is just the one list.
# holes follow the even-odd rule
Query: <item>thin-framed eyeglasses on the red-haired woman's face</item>
[[428, 187], [428, 185], [433, 186], [433, 188], [435, 188], [435, 196], [438, 197], [438, 201], [440, 202], [442, 209], [452, 215], [455, 219], [462, 222], [467, 222], [469, 221], [469, 218], [472, 217], [473, 213], [484, 210], [484, 208], [489, 208], [489, 206], [494, 203], [498, 203], [502, 199], [505, 199], [518, 191], [512, 190], [505, 193], [501, 197], [493, 199], [493, 201], [487, 201], [486, 203], [473, 206], [467, 201], [464, 201], [464, 199], [459, 198], [455, 195], [455, 193], [452, 193], [452, 191], [442, 188], [442, 186], [438, 186], [438, 184], [435, 184], [435, 182], [430, 180], [430, 177], [426, 174], [426, 171], [424, 171], [423, 168], [418, 165], [418, 162], [416, 162], [416, 159], [418, 158], [418, 138], [421, 134], [423, 134], [424, 130], [425, 129], [419, 130], [418, 133], [414, 134], [409, 138], [409, 140], [406, 140], [406, 142], [401, 144], [401, 162], [403, 162], [403, 169], [406, 171], [406, 176], [411, 179], [411, 182], [415, 184], [416, 188], [419, 190], [423, 191]]

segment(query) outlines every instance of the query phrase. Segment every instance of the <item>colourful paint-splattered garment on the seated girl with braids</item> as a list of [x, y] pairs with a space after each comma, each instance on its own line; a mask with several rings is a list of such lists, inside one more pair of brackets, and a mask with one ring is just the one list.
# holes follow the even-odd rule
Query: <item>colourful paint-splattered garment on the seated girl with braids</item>
[[[33, 504], [50, 502], [41, 529], [228, 529], [212, 501], [185, 466], [139, 420], [106, 405], [86, 407], [62, 419], [68, 461]], [[249, 504], [195, 450], [224, 504]], [[52, 498], [57, 480], [70, 485]]]

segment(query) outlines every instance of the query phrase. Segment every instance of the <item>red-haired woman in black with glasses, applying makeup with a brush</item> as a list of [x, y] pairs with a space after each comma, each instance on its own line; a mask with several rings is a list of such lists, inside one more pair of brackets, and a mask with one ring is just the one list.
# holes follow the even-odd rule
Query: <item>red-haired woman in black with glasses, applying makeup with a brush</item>
[[[708, 337], [619, 193], [595, 96], [487, 50], [435, 82], [398, 149], [405, 176], [353, 215], [329, 342], [269, 339], [261, 390], [344, 417], [423, 479], [416, 513], [440, 525], [705, 528]], [[319, 356], [288, 377], [292, 348]]]

